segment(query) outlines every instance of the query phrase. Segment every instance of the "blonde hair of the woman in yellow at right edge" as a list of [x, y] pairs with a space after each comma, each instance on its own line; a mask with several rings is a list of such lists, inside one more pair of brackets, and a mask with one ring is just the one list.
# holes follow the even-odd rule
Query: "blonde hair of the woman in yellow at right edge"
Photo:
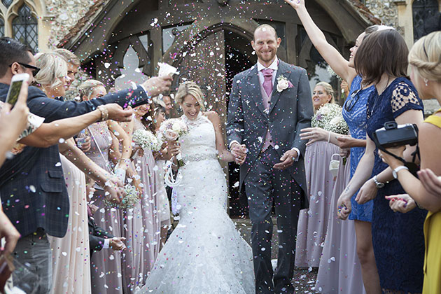
[[409, 52], [409, 64], [421, 78], [441, 81], [441, 31], [423, 36]]

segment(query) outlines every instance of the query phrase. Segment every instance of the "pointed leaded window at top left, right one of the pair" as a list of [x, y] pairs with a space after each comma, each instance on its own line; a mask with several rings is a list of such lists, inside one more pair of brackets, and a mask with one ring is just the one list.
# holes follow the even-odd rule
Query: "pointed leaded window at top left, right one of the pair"
[[18, 16], [13, 19], [13, 36], [29, 46], [34, 52], [38, 50], [38, 22], [26, 4], [18, 8]]

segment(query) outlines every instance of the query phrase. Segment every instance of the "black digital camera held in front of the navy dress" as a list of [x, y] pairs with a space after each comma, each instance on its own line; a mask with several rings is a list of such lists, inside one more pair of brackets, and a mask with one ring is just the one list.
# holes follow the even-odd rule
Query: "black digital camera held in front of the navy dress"
[[374, 132], [377, 147], [391, 148], [418, 144], [418, 127], [412, 124], [397, 125], [394, 121], [384, 123], [384, 127]]

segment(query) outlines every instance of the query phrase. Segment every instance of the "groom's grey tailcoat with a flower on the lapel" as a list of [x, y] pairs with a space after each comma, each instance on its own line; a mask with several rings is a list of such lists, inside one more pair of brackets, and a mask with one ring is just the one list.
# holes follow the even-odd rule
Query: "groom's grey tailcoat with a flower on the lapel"
[[[279, 76], [287, 78], [293, 87], [278, 92], [276, 85]], [[305, 142], [300, 139], [300, 130], [311, 126], [313, 114], [309, 80], [301, 67], [279, 62], [268, 114], [262, 102], [257, 65], [238, 73], [233, 80], [228, 105], [227, 138], [228, 144], [236, 140], [248, 148], [246, 161], [240, 168], [240, 185], [262, 150], [269, 127], [280, 156], [294, 147], [300, 150], [299, 160], [288, 168], [288, 172], [306, 193], [302, 156]]]

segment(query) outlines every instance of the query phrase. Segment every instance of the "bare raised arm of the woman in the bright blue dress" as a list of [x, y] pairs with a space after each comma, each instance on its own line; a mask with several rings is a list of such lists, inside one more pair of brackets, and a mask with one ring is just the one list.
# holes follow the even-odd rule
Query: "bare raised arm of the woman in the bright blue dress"
[[285, 0], [285, 2], [290, 6], [293, 6], [297, 11], [297, 15], [300, 18], [304, 29], [306, 29], [309, 39], [314, 44], [321, 57], [328, 62], [332, 70], [334, 70], [340, 78], [346, 80], [346, 82], [351, 85], [353, 78], [357, 75], [355, 69], [349, 67], [349, 62], [344, 59], [334, 46], [326, 41], [325, 34], [323, 34], [323, 31], [317, 27], [314, 20], [312, 20], [311, 15], [309, 15], [306, 6], [304, 6], [304, 0]]

